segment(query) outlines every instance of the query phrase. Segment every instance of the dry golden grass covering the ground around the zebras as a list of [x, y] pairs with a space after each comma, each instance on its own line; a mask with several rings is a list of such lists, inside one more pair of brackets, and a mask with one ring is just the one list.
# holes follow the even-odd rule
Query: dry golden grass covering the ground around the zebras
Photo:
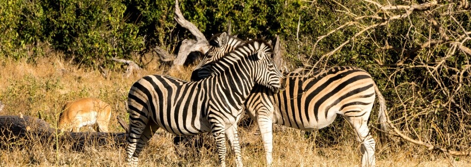
[[[113, 108], [109, 129], [124, 132], [116, 116], [127, 119], [125, 100], [131, 84], [147, 74], [166, 73], [188, 79], [193, 67], [166, 71], [157, 63], [147, 69], [123, 78], [123, 70], [112, 70], [109, 78], [100, 72], [78, 68], [64, 61], [60, 54], [40, 58], [36, 63], [0, 59], [0, 100], [5, 108], [0, 115], [27, 115], [40, 117], [56, 126], [62, 105], [80, 97], [98, 97]], [[342, 122], [344, 120], [340, 120]], [[253, 125], [252, 125], [253, 127]], [[349, 128], [349, 127], [348, 127]], [[274, 133], [275, 166], [279, 167], [354, 167], [360, 164], [359, 144], [351, 129], [340, 130], [342, 138], [334, 144], [324, 143], [320, 137], [307, 138], [295, 129], [279, 129]], [[314, 131], [317, 134], [317, 131]], [[314, 135], [315, 136], [315, 135]], [[240, 128], [242, 155], [247, 167], [264, 166], [265, 158], [261, 138], [255, 128]], [[398, 139], [385, 145], [377, 144], [377, 162], [381, 167], [446, 167], [470, 166], [470, 158], [446, 157], [422, 147], [401, 143]], [[207, 141], [210, 145], [211, 141]], [[4, 143], [5, 144], [5, 143]], [[27, 146], [6, 143], [0, 151], [0, 166], [123, 166], [124, 148], [87, 147], [72, 151], [70, 143], [60, 143], [57, 149], [41, 142]], [[161, 130], [144, 148], [139, 159], [141, 166], [216, 166], [217, 156], [213, 147], [176, 151], [173, 136]], [[229, 153], [227, 163], [234, 166]]]

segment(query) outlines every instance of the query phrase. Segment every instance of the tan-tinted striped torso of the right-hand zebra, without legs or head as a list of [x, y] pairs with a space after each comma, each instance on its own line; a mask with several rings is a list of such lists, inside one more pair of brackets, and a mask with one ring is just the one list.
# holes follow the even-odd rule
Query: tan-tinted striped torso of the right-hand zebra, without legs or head
[[[328, 126], [337, 116], [368, 118], [375, 98], [374, 81], [364, 70], [354, 67], [334, 67], [326, 71], [288, 73], [287, 90], [274, 94], [257, 87], [247, 100], [247, 109], [257, 111], [260, 95], [273, 101], [276, 110], [273, 122], [301, 130], [314, 130]], [[265, 98], [265, 97], [264, 97]], [[255, 113], [255, 112], [250, 112]]]

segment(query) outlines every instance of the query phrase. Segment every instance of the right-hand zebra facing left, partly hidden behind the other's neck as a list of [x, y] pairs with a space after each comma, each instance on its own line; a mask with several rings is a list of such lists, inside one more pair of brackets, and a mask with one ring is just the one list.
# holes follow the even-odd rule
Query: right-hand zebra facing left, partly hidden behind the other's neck
[[[216, 34], [219, 39], [231, 38], [225, 33]], [[215, 37], [213, 37], [215, 38]], [[227, 40], [230, 41], [231, 39]], [[221, 40], [224, 41], [224, 40]], [[229, 43], [217, 43], [211, 48], [235, 48]], [[222, 47], [221, 47], [222, 46]], [[191, 78], [198, 80], [209, 75], [205, 64], [217, 61], [227, 52], [210, 49], [206, 58], [197, 65]], [[230, 51], [230, 50], [226, 50]], [[333, 67], [315, 72], [288, 73], [286, 91], [275, 94], [256, 86], [245, 102], [245, 109], [257, 120], [266, 153], [266, 164], [271, 166], [273, 134], [272, 123], [301, 130], [320, 129], [331, 124], [337, 115], [343, 116], [353, 127], [357, 140], [362, 143], [362, 167], [375, 165], [375, 141], [369, 133], [367, 120], [378, 96], [380, 111], [378, 121], [386, 131], [385, 99], [368, 72], [355, 67]]]

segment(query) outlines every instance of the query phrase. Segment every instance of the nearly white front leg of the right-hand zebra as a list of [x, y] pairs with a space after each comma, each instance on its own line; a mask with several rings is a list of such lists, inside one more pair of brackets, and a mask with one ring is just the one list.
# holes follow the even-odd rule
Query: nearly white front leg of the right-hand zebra
[[265, 150], [266, 165], [272, 166], [273, 157], [273, 120], [271, 117], [264, 115], [265, 112], [259, 112], [257, 115], [257, 123], [259, 124], [260, 134], [262, 135], [263, 149]]

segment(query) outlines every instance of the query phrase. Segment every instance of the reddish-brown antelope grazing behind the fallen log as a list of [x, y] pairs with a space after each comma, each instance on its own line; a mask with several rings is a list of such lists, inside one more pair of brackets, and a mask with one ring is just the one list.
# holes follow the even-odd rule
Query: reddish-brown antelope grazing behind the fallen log
[[108, 132], [111, 107], [98, 98], [80, 98], [68, 102], [59, 116], [58, 129], [78, 132], [82, 126], [94, 126], [99, 132]]

